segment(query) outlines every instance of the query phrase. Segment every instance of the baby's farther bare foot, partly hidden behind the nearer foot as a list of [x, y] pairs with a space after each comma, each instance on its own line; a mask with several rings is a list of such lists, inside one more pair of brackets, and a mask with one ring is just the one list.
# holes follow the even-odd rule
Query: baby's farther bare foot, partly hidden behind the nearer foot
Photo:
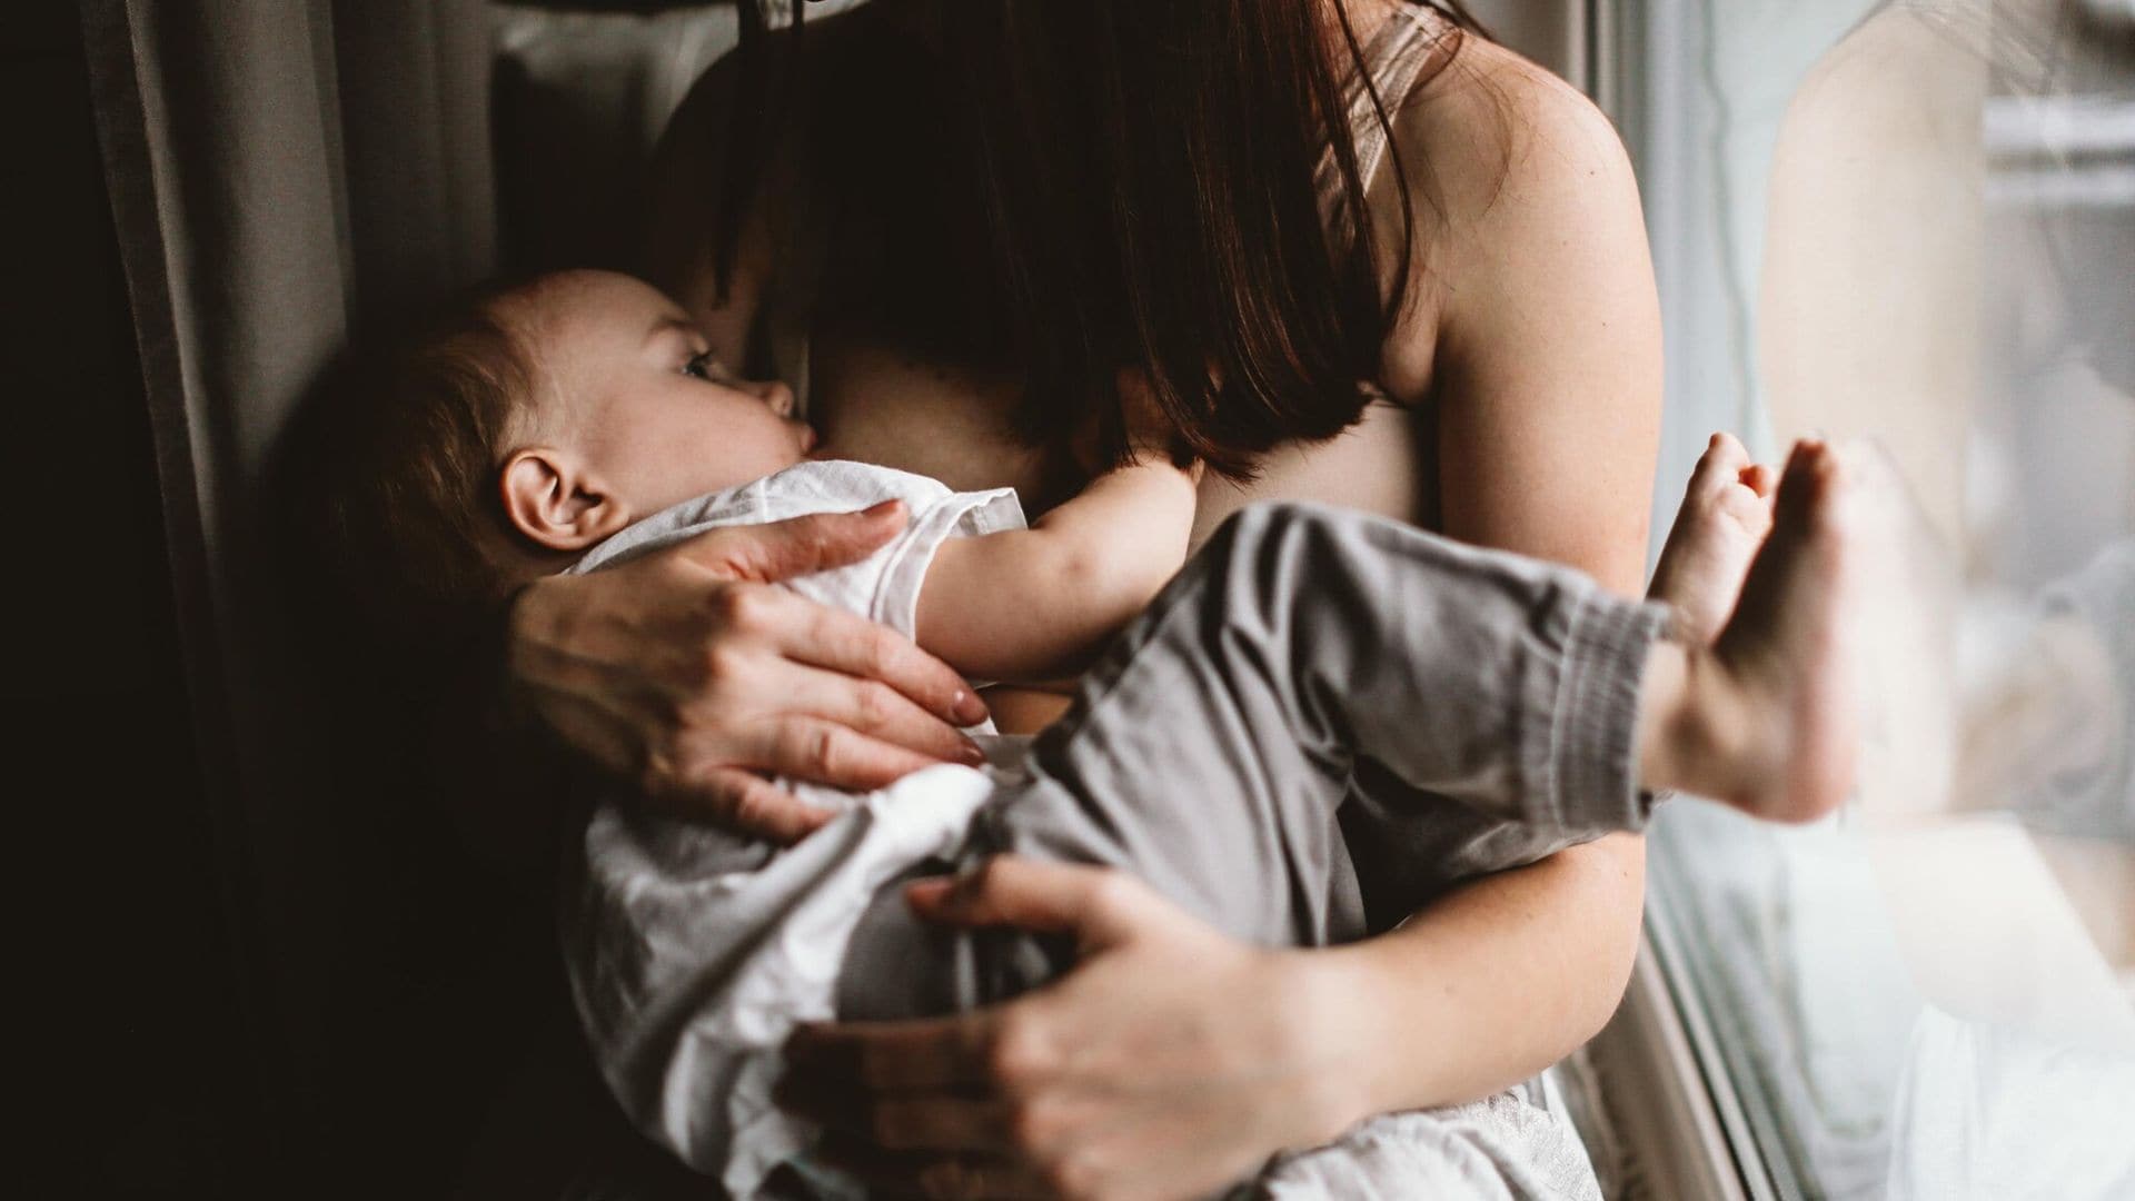
[[1697, 459], [1646, 592], [1676, 609], [1687, 645], [1710, 643], [1734, 611], [1749, 560], [1772, 532], [1772, 468], [1753, 464], [1731, 434], [1714, 434]]

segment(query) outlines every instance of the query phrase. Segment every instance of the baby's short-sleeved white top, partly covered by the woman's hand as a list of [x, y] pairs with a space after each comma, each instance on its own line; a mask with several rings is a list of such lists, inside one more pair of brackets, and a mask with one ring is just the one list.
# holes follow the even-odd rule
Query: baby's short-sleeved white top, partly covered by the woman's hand
[[[719, 526], [760, 526], [903, 500], [905, 530], [869, 558], [786, 581], [912, 637], [920, 583], [952, 536], [1021, 530], [1012, 489], [948, 485], [869, 464], [807, 462], [655, 513], [570, 573], [615, 566]], [[991, 727], [989, 727], [991, 731]], [[566, 887], [564, 957], [579, 1017], [632, 1122], [737, 1199], [758, 1197], [811, 1128], [771, 1103], [796, 1021], [835, 1017], [845, 945], [882, 885], [963, 844], [997, 776], [942, 765], [867, 795], [781, 780], [843, 810], [779, 851], [705, 825], [604, 804], [585, 876]]]

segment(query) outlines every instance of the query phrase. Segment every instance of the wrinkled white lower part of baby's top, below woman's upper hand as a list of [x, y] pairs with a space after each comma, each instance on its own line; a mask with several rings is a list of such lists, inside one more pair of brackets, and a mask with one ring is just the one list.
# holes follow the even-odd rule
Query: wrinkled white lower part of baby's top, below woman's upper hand
[[984, 771], [912, 774], [773, 853], [760, 842], [604, 806], [566, 925], [572, 985], [602, 1073], [632, 1120], [734, 1197], [813, 1141], [771, 1101], [798, 1021], [837, 1017], [839, 968], [875, 893], [946, 865]]

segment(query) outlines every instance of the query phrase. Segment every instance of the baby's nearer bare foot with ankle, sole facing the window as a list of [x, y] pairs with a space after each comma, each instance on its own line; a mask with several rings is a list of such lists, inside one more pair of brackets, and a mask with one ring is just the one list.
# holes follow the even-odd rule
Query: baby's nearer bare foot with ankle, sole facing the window
[[1894, 489], [1868, 444], [1793, 447], [1740, 603], [1712, 650], [1691, 656], [1706, 761], [1693, 791], [1772, 821], [1815, 821], [1851, 793], [1862, 566], [1902, 551], [1883, 519], [1902, 504]]

